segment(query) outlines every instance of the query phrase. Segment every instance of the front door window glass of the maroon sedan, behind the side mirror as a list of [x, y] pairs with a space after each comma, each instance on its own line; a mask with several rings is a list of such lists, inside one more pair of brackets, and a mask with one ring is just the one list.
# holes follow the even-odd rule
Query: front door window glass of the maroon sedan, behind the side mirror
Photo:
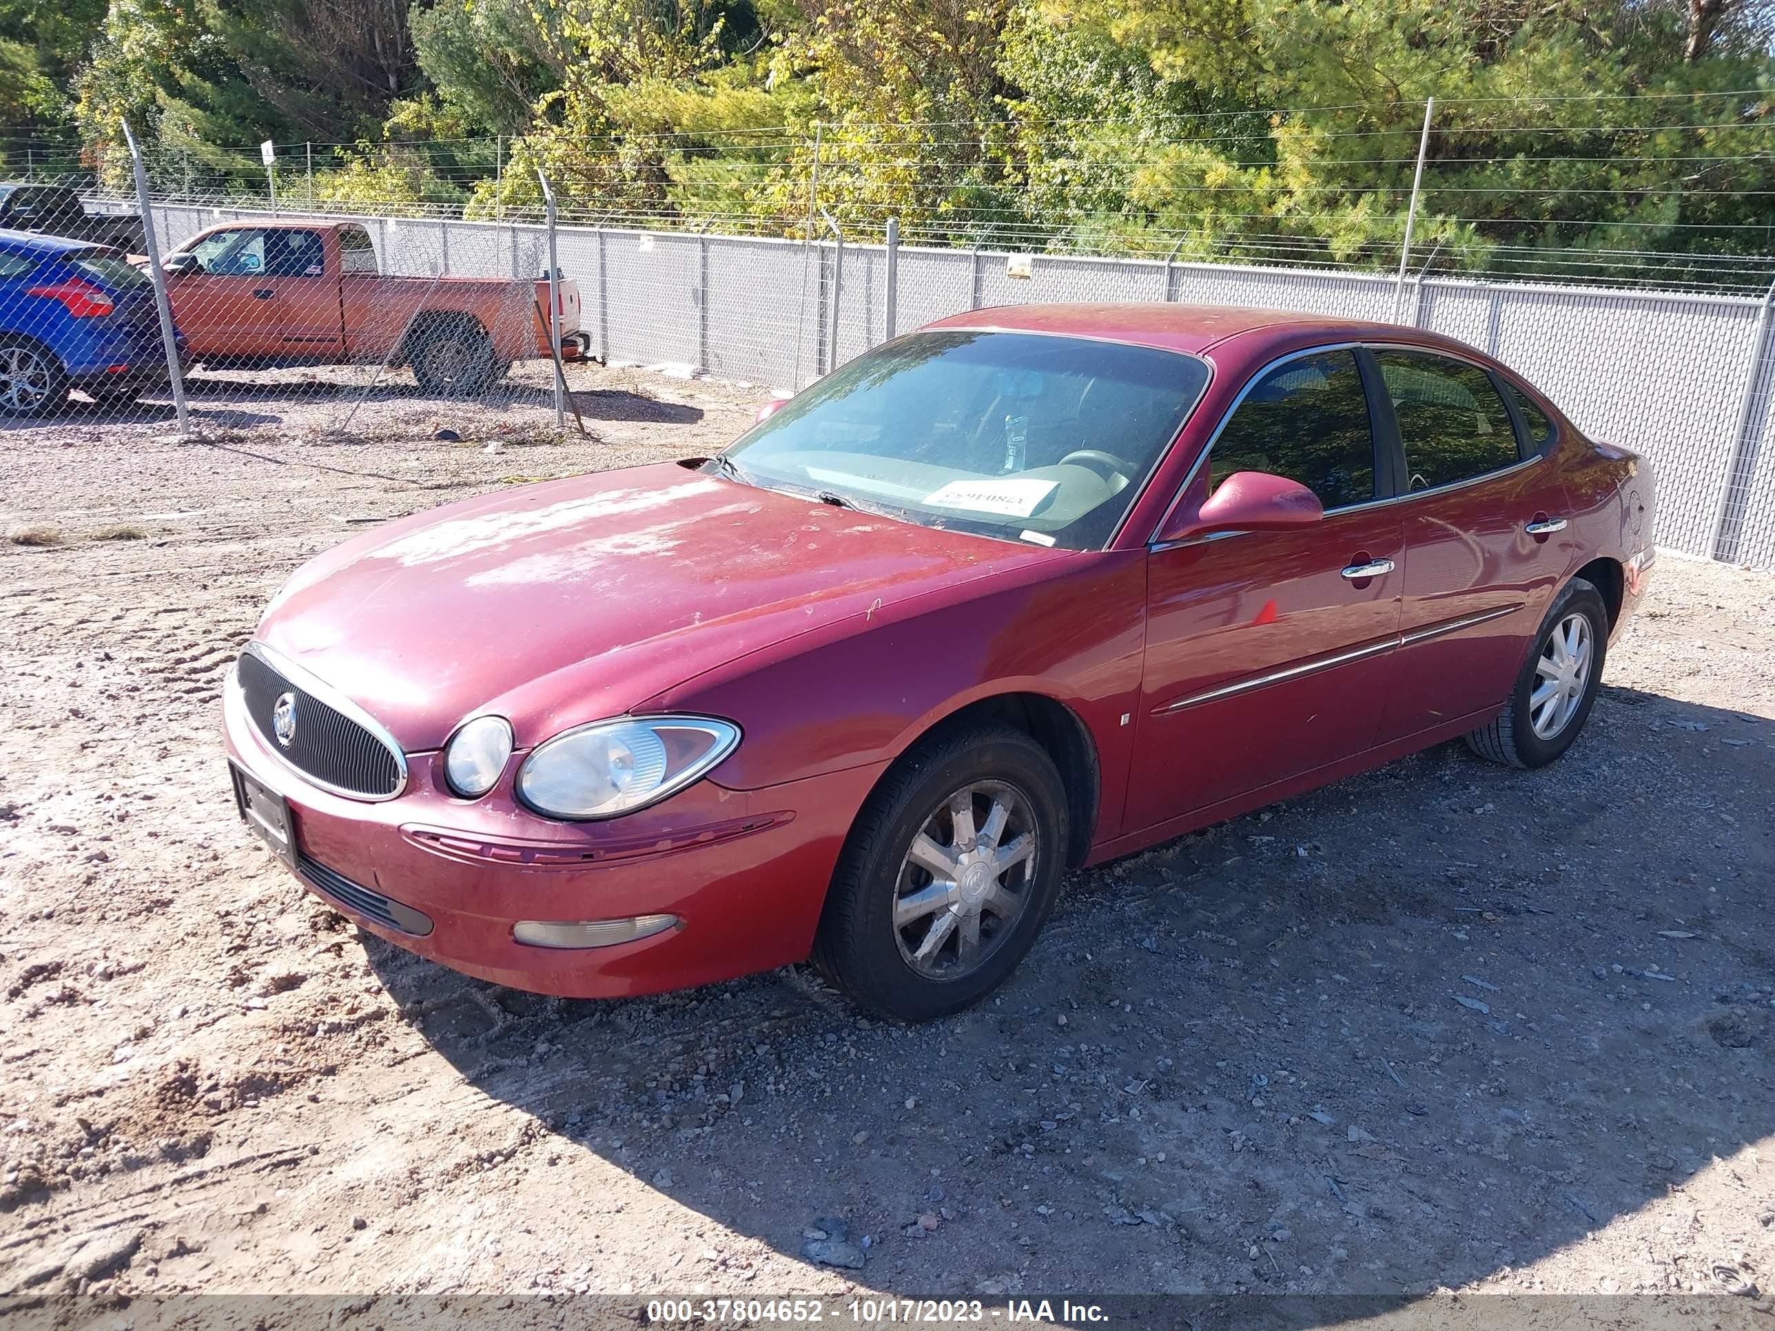
[[1328, 509], [1374, 499], [1374, 431], [1356, 353], [1289, 360], [1253, 383], [1214, 440], [1211, 490], [1234, 472], [1299, 481]]

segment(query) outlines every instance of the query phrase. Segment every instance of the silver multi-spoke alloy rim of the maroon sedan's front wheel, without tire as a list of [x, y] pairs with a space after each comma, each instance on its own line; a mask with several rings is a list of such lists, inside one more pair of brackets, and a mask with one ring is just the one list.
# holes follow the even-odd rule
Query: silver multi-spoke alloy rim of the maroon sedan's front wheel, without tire
[[902, 960], [932, 980], [978, 971], [1030, 907], [1038, 854], [1021, 790], [974, 781], [951, 793], [900, 864], [893, 930]]

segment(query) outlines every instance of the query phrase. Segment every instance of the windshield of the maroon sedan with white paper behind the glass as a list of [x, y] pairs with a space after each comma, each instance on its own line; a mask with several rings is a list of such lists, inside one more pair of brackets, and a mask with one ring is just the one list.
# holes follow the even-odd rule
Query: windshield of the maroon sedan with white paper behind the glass
[[927, 527], [1095, 550], [1207, 382], [1196, 357], [1145, 346], [912, 334], [792, 398], [722, 463]]

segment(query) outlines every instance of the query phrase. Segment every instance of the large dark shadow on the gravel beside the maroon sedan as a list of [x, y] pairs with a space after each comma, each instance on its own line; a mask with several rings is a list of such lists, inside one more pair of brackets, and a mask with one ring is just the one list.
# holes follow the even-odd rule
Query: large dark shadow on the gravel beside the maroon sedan
[[841, 1217], [873, 1288], [1416, 1297], [1647, 1207], [1686, 1246], [1684, 1180], [1775, 1130], [1771, 742], [1605, 689], [1541, 772], [1441, 745], [1077, 873], [919, 1028], [801, 969], [584, 1003], [367, 948], [563, 1150], [783, 1253]]

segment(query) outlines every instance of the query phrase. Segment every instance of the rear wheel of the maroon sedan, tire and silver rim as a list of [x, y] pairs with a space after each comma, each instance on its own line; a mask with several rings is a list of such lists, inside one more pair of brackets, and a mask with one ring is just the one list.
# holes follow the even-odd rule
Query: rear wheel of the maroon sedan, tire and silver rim
[[1511, 701], [1489, 726], [1468, 733], [1468, 747], [1507, 767], [1551, 763], [1590, 717], [1606, 651], [1603, 595], [1585, 579], [1573, 579], [1541, 621]]

